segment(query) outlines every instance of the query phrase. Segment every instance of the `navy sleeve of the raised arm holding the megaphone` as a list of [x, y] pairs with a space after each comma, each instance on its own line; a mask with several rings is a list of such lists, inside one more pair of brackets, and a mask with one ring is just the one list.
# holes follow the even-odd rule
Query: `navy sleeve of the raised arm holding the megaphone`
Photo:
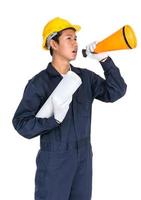
[[124, 96], [127, 85], [110, 57], [105, 62], [100, 63], [104, 70], [105, 79], [92, 72], [92, 98], [103, 102], [114, 102]]

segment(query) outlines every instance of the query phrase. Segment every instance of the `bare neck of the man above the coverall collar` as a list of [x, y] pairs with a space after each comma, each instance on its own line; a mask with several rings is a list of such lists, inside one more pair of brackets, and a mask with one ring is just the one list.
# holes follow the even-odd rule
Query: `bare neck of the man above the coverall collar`
[[52, 66], [60, 73], [66, 74], [70, 70], [70, 64], [65, 60], [52, 60]]

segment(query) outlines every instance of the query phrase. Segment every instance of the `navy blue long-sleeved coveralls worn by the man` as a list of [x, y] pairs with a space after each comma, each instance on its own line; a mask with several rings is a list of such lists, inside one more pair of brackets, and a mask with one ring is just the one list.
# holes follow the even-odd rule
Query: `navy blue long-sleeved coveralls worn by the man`
[[[15, 129], [26, 138], [40, 135], [36, 163], [35, 200], [90, 200], [92, 192], [91, 108], [94, 98], [114, 102], [126, 92], [119, 69], [108, 57], [101, 62], [105, 79], [71, 65], [82, 84], [73, 94], [61, 124], [54, 116], [35, 115], [63, 78], [51, 65], [29, 80], [13, 117]], [[65, 91], [62, 91], [65, 92]]]

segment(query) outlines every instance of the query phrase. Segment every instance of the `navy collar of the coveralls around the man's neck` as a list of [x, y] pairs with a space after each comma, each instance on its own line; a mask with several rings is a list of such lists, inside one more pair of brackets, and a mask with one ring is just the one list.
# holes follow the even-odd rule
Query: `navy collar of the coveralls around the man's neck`
[[[73, 67], [72, 65], [70, 65], [71, 70], [77, 74], [80, 74], [80, 70], [77, 69], [76, 67]], [[49, 73], [51, 76], [62, 76], [53, 66], [51, 63], [48, 64], [47, 69], [46, 69], [47, 73]]]

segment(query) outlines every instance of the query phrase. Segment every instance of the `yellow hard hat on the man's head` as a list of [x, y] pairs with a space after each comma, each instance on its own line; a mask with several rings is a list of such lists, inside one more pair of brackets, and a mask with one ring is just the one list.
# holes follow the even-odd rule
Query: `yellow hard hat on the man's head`
[[43, 33], [42, 33], [43, 44], [42, 44], [42, 47], [45, 50], [48, 50], [48, 47], [46, 46], [47, 39], [52, 35], [55, 36], [55, 34], [57, 32], [62, 31], [63, 29], [66, 29], [66, 28], [74, 28], [76, 31], [79, 31], [81, 29], [81, 27], [79, 25], [73, 25], [69, 21], [62, 19], [60, 17], [56, 17], [56, 18], [50, 20], [45, 25], [45, 27], [43, 29]]

